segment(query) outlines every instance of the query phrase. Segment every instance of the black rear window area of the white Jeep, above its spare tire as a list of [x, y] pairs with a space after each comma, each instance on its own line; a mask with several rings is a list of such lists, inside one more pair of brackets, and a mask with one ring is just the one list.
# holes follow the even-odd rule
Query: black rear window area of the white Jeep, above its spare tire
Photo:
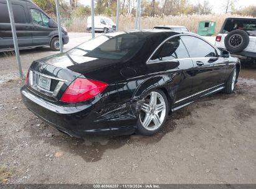
[[255, 31], [256, 19], [228, 19], [221, 32], [225, 34], [236, 29]]

